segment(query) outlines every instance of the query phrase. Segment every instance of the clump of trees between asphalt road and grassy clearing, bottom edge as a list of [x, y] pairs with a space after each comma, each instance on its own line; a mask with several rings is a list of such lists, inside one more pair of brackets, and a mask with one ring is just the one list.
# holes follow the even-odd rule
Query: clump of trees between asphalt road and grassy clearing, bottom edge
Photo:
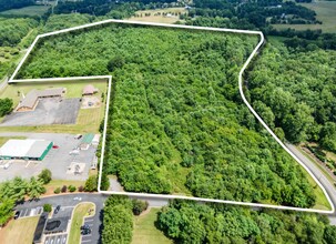
[[132, 202], [126, 196], [112, 195], [104, 206], [103, 244], [131, 243], [133, 230]]

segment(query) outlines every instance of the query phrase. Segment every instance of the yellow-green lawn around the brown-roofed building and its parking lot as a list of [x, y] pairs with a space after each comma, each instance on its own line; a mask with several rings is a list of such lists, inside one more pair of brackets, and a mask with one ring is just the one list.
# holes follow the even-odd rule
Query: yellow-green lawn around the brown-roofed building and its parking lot
[[[74, 82], [53, 82], [53, 83], [18, 83], [7, 85], [4, 90], [0, 92], [0, 99], [11, 98], [13, 100], [14, 106], [20, 101], [20, 93], [27, 94], [33, 89], [49, 89], [49, 88], [65, 88], [65, 98], [81, 98], [83, 88], [92, 83], [99, 89], [99, 93], [95, 95], [101, 96], [102, 93], [106, 93], [106, 82], [105, 81], [77, 81]], [[104, 116], [104, 104], [100, 108], [94, 109], [81, 109], [79, 111], [77, 124], [51, 124], [41, 126], [6, 126], [0, 128], [0, 132], [17, 131], [17, 132], [52, 132], [52, 133], [96, 133], [99, 131], [99, 125]]]

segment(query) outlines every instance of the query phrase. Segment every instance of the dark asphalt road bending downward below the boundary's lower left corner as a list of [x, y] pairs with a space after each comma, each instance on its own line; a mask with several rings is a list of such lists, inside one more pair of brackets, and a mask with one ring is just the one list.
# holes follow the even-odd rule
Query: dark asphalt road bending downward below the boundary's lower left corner
[[[73, 200], [74, 197], [81, 197], [81, 201]], [[102, 210], [106, 195], [102, 194], [88, 194], [88, 193], [77, 193], [77, 194], [65, 194], [65, 195], [54, 195], [49, 197], [40, 199], [39, 201], [24, 202], [23, 204], [18, 205], [17, 210], [26, 210], [31, 207], [42, 206], [45, 203], [49, 203], [53, 206], [75, 206], [80, 202], [92, 202], [95, 204], [95, 215], [92, 217], [92, 232], [90, 236], [90, 242], [85, 244], [96, 244], [100, 243], [100, 232], [102, 228]]]

